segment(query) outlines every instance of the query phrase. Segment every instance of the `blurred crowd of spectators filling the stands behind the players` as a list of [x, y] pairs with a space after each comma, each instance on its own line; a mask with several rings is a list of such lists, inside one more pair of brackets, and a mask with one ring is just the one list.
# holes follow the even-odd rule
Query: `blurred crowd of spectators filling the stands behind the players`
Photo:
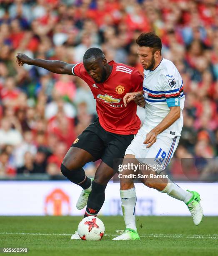
[[[95, 118], [95, 101], [78, 77], [18, 67], [18, 52], [83, 61], [90, 47], [143, 72], [135, 39], [154, 31], [162, 55], [184, 82], [178, 159], [207, 163], [218, 154], [218, 3], [216, 0], [0, 0], [0, 177], [60, 174], [68, 148]], [[171, 173], [181, 169], [172, 162]], [[96, 164], [85, 170], [93, 176]], [[197, 168], [198, 179], [216, 168]]]

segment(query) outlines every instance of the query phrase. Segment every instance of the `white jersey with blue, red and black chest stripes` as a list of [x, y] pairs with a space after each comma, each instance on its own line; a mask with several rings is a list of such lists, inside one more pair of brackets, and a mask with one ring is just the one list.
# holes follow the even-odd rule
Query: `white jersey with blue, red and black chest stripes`
[[171, 138], [180, 136], [185, 95], [183, 80], [173, 62], [162, 59], [156, 69], [144, 70], [143, 91], [146, 101], [143, 130], [150, 132], [170, 112], [170, 107], [180, 106], [180, 118], [161, 133]]

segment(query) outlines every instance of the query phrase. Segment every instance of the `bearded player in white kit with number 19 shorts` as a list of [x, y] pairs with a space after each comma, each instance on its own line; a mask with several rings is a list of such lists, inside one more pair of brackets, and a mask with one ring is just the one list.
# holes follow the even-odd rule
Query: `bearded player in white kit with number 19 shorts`
[[[136, 137], [125, 151], [120, 177], [120, 197], [123, 217], [126, 224], [124, 233], [113, 240], [138, 240], [135, 226], [136, 193], [133, 183], [134, 167], [128, 164], [137, 163], [142, 166], [154, 166], [158, 163], [159, 169], [143, 170], [148, 174], [142, 182], [160, 192], [185, 202], [191, 212], [195, 225], [199, 225], [203, 217], [198, 192], [184, 190], [164, 177], [150, 174], [160, 174], [169, 164], [178, 146], [180, 133], [183, 127], [182, 110], [185, 95], [183, 80], [172, 61], [161, 56], [162, 43], [154, 33], [142, 33], [136, 40], [138, 55], [144, 67], [143, 96], [127, 93], [123, 99], [125, 105], [131, 100], [145, 105], [145, 120]], [[144, 103], [145, 102], [145, 103]], [[138, 164], [139, 164], [138, 163]], [[129, 178], [131, 177], [131, 179]]]

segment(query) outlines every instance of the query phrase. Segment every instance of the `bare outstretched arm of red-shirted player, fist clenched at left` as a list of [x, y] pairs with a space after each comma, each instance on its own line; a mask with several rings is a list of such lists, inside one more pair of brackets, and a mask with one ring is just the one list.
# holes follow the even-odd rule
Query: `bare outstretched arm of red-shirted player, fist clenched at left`
[[72, 68], [75, 64], [68, 64], [58, 60], [32, 59], [22, 53], [18, 53], [16, 58], [19, 66], [23, 66], [23, 64], [35, 65], [53, 73], [73, 75]]

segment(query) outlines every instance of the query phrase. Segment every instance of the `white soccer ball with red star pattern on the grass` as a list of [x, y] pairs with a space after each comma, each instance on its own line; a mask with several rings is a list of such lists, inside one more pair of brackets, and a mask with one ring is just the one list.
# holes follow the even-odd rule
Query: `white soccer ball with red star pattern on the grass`
[[105, 233], [104, 223], [97, 217], [85, 217], [78, 226], [78, 235], [83, 240], [101, 240]]

